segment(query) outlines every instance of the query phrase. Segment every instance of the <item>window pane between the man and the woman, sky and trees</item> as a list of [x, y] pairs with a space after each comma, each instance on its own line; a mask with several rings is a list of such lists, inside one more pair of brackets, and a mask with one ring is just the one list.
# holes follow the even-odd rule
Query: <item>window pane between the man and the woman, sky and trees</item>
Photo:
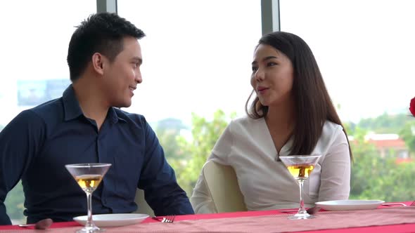
[[[117, 2], [119, 15], [147, 35], [140, 41], [143, 83], [127, 111], [146, 116], [190, 196], [229, 114], [245, 114], [260, 0]], [[218, 109], [225, 113], [214, 116]], [[198, 126], [191, 132], [192, 112]]]

